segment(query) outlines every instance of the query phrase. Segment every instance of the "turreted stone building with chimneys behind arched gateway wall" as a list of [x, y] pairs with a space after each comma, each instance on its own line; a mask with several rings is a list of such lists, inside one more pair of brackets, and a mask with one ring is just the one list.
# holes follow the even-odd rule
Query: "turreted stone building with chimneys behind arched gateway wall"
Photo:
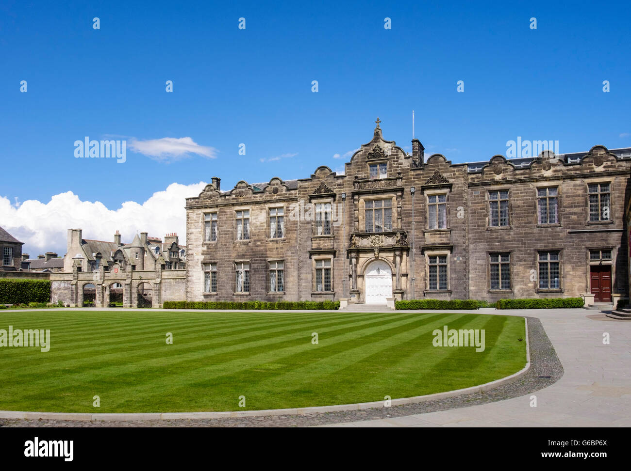
[[161, 307], [186, 296], [186, 247], [177, 234], [164, 241], [136, 234], [131, 244], [83, 239], [81, 229], [68, 229], [64, 273], [51, 273], [51, 301], [71, 306]]

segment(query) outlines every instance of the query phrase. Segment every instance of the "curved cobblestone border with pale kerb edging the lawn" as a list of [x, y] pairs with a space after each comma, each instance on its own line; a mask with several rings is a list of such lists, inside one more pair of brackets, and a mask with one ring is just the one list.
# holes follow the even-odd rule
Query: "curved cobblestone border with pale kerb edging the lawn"
[[466, 389], [392, 399], [391, 407], [384, 407], [384, 402], [378, 401], [304, 409], [163, 414], [64, 414], [61, 412], [0, 411], [0, 417], [2, 417], [0, 418], [0, 426], [312, 426], [401, 417], [510, 399], [548, 387], [563, 376], [563, 367], [541, 325], [541, 321], [536, 317], [524, 317], [524, 319], [526, 320], [528, 363], [519, 372], [500, 380]]

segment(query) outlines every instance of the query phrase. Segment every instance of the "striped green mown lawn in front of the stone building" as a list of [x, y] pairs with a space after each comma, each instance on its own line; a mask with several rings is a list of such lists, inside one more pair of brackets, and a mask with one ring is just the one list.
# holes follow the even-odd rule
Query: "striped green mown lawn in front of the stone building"
[[[524, 319], [504, 315], [0, 312], [9, 325], [51, 337], [47, 353], [0, 348], [0, 409], [13, 411], [234, 411], [241, 395], [248, 410], [348, 404], [478, 385], [526, 364]], [[432, 346], [444, 325], [485, 329], [485, 351]]]

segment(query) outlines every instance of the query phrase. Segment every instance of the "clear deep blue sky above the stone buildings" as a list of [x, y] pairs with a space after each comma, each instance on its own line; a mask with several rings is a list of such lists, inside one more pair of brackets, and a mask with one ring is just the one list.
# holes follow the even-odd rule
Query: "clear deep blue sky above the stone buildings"
[[[505, 154], [517, 136], [558, 140], [560, 152], [630, 147], [630, 17], [622, 1], [5, 0], [0, 138], [12, 176], [0, 198], [13, 206], [5, 202], [0, 225], [22, 227], [11, 220], [16, 201], [46, 205], [68, 191], [115, 212], [173, 183], [216, 175], [231, 188], [240, 179], [305, 178], [322, 164], [339, 169], [348, 159], [333, 156], [370, 140], [377, 116], [385, 139], [408, 147], [412, 110], [426, 152], [452, 162]], [[156, 159], [128, 145], [124, 164], [76, 159], [73, 143], [85, 136], [189, 137], [212, 149]]]

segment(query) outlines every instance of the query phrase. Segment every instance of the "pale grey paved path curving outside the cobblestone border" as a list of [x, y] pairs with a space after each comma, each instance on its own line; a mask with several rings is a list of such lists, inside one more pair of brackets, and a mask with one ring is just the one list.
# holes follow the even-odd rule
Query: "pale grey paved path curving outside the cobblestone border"
[[[329, 427], [628, 427], [631, 426], [631, 321], [596, 310], [546, 309], [480, 314], [538, 317], [565, 373], [536, 395], [405, 417], [327, 424]], [[610, 344], [603, 344], [603, 333]]]

